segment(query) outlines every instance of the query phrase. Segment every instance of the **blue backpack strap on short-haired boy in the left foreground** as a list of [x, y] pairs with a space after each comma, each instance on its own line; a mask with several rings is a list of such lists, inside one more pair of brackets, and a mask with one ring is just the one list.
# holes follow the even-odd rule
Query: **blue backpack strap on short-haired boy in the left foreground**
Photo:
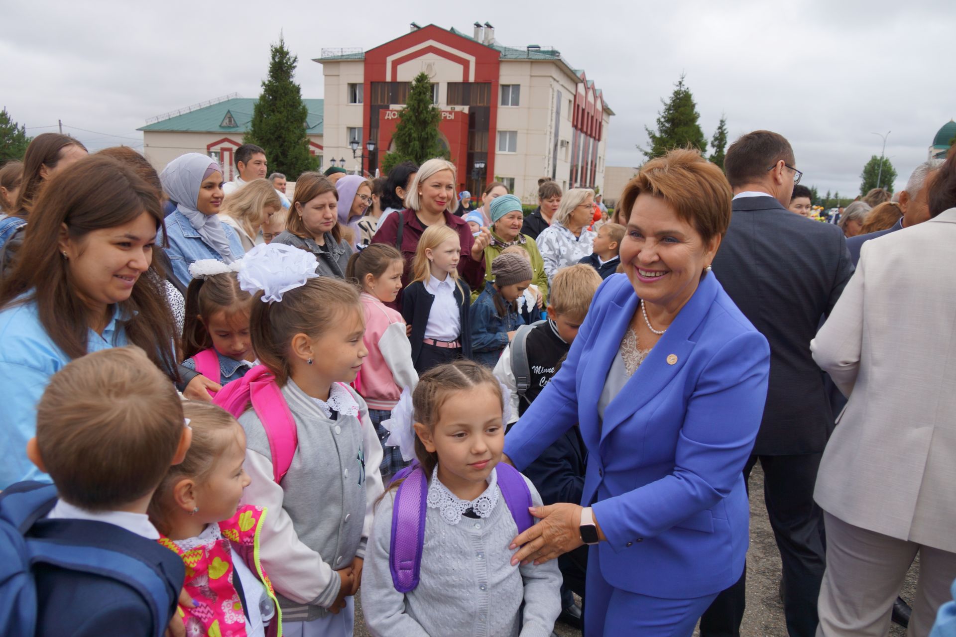
[[31, 566], [51, 564], [58, 568], [93, 573], [126, 584], [140, 593], [153, 616], [155, 637], [163, 637], [168, 625], [168, 608], [173, 605], [166, 584], [159, 573], [139, 559], [96, 546], [61, 544], [54, 541], [27, 540]]

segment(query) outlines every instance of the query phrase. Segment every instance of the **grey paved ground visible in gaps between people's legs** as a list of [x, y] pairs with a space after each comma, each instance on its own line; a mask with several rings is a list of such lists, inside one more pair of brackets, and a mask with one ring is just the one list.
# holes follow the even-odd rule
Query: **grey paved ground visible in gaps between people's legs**
[[[750, 554], [747, 571], [747, 611], [741, 626], [742, 637], [787, 637], [783, 618], [783, 604], [778, 597], [780, 585], [780, 555], [777, 553], [773, 532], [764, 506], [764, 475], [758, 464], [750, 476]], [[903, 586], [902, 597], [913, 599], [919, 560], [910, 568]], [[580, 637], [580, 631], [558, 624], [554, 631], [561, 637]], [[695, 632], [695, 635], [697, 633]], [[892, 625], [890, 637], [904, 637], [906, 631]], [[361, 608], [356, 604], [356, 636], [368, 637], [361, 619]]]

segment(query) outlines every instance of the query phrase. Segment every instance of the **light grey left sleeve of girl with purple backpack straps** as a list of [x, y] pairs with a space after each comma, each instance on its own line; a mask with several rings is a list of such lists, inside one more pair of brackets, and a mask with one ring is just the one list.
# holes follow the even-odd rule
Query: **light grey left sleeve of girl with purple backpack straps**
[[422, 625], [405, 612], [404, 593], [396, 590], [392, 582], [389, 550], [394, 495], [386, 495], [379, 504], [365, 554], [359, 588], [365, 624], [374, 637], [428, 637]]

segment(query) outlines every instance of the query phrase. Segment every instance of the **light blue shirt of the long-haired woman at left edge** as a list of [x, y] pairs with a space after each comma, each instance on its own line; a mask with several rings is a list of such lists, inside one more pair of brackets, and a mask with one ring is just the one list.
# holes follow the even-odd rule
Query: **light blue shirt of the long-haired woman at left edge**
[[[117, 308], [102, 335], [90, 329], [87, 353], [127, 345], [124, 323]], [[27, 458], [27, 441], [36, 435], [36, 403], [50, 377], [72, 359], [40, 323], [35, 301], [0, 310], [0, 343], [0, 380], [6, 393], [0, 400], [0, 448], [6, 450], [0, 489], [20, 480], [49, 482]]]

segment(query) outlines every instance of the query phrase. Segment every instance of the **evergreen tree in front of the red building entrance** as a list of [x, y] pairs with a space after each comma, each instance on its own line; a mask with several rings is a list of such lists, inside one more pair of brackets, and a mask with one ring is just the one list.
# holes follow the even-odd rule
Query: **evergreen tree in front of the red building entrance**
[[438, 125], [442, 112], [431, 101], [431, 78], [420, 73], [408, 91], [408, 103], [402, 108], [402, 119], [395, 128], [395, 150], [381, 161], [381, 171], [388, 173], [402, 161], [422, 165], [428, 159], [445, 157]]

